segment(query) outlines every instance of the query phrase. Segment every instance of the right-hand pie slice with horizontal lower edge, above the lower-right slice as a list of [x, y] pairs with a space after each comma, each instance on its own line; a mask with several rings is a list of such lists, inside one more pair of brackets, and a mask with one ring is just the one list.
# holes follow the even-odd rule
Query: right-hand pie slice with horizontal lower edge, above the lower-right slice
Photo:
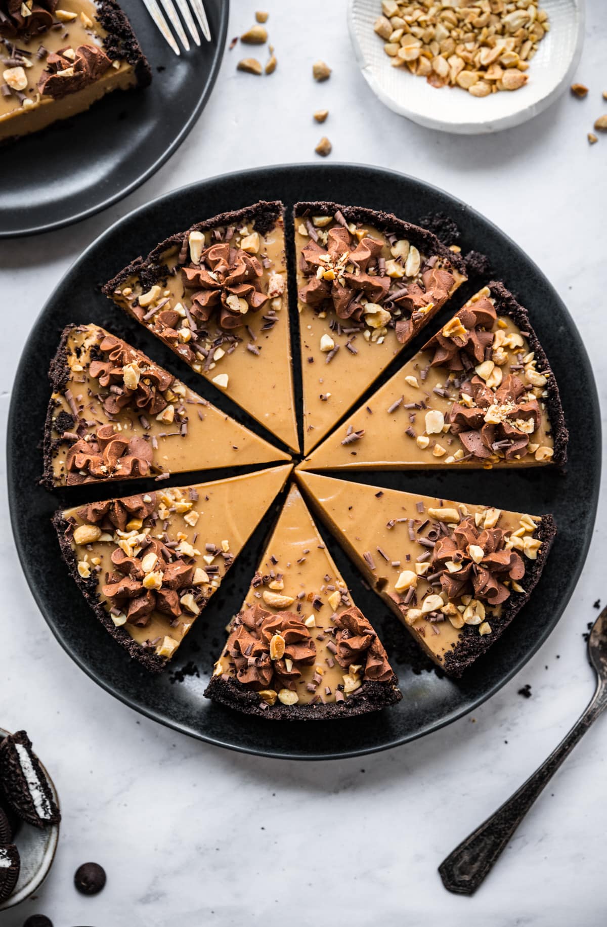
[[527, 311], [492, 282], [301, 469], [563, 467], [567, 438], [559, 389]]

